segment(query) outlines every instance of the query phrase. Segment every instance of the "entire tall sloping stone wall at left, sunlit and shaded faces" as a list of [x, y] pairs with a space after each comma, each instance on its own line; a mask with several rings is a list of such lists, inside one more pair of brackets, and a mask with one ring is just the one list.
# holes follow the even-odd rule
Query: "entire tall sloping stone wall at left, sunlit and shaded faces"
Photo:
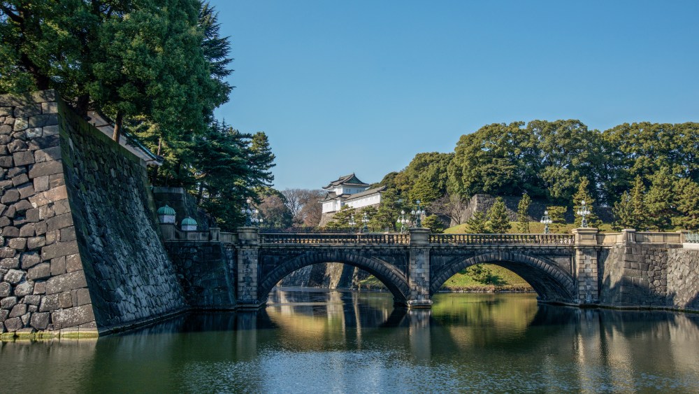
[[143, 162], [47, 90], [0, 96], [0, 332], [96, 335], [185, 307]]

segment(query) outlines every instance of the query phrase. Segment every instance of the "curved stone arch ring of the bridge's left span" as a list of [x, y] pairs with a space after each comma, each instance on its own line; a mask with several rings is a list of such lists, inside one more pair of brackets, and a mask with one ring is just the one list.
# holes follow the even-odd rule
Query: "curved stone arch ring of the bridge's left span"
[[359, 267], [384, 283], [391, 294], [394, 295], [395, 302], [405, 304], [408, 300], [410, 289], [408, 287], [408, 279], [403, 272], [378, 258], [366, 258], [346, 250], [308, 251], [282, 262], [266, 275], [264, 279], [260, 280], [257, 289], [259, 300], [266, 300], [269, 292], [279, 281], [284, 279], [284, 276], [307, 265], [321, 262], [341, 262], [343, 264], [352, 265], [353, 267]]

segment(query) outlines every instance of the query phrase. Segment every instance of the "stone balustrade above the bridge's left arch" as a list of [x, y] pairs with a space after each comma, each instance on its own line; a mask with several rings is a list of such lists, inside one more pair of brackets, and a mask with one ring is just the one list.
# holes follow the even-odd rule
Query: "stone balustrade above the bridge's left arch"
[[408, 234], [264, 233], [261, 244], [410, 244]]

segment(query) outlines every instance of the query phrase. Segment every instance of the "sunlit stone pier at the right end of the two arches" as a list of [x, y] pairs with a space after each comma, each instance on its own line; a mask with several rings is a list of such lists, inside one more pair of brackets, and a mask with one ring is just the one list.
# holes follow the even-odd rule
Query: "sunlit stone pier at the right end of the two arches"
[[576, 228], [575, 262], [573, 275], [577, 279], [577, 298], [579, 304], [597, 304], [600, 300], [598, 281], [596, 228]]

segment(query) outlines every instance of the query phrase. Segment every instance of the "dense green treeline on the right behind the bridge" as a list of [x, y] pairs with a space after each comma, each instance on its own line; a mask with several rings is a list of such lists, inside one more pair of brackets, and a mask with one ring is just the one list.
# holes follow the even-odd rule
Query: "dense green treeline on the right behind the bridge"
[[[379, 183], [428, 206], [477, 193], [573, 207], [614, 207], [617, 227], [699, 227], [699, 123], [640, 122], [600, 132], [579, 120], [495, 123], [464, 134], [453, 153], [419, 153]], [[445, 211], [445, 209], [434, 209]]]

